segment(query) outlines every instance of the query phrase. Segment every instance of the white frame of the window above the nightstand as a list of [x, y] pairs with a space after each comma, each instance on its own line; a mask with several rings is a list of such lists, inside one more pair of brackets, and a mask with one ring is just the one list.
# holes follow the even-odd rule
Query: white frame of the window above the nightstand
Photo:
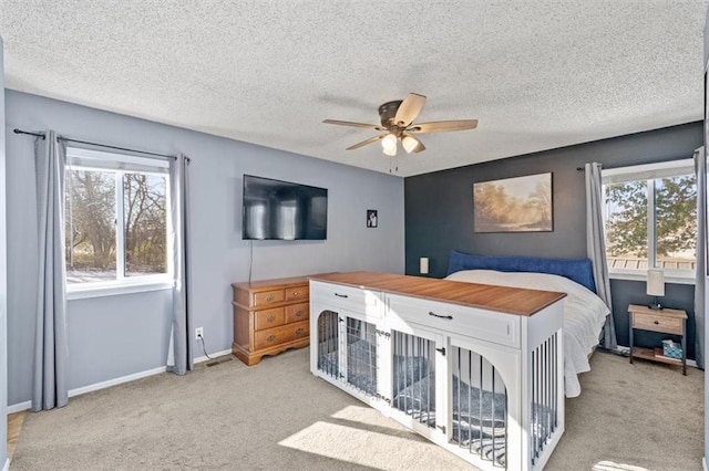
[[[623, 181], [647, 180], [647, 238], [648, 238], [648, 266], [655, 266], [657, 262], [657, 240], [655, 237], [655, 185], [653, 181], [657, 178], [677, 177], [680, 175], [695, 174], [695, 163], [692, 159], [671, 160], [657, 164], [637, 165], [631, 167], [620, 167], [602, 170], [603, 186], [607, 184], [617, 184]], [[606, 192], [603, 191], [604, 208], [604, 231], [608, 214], [606, 213]], [[607, 234], [606, 234], [607, 240]], [[695, 284], [696, 272], [693, 270], [669, 270], [664, 269], [665, 281], [667, 283], [677, 284]], [[647, 270], [634, 269], [612, 269], [608, 268], [608, 275], [615, 280], [635, 280], [645, 281], [647, 279]]]

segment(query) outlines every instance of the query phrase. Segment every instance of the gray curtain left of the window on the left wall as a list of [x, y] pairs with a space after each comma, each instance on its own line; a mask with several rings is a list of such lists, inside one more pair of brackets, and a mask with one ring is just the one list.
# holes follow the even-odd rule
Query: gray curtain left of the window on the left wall
[[39, 280], [32, 410], [69, 401], [66, 387], [66, 266], [64, 265], [64, 167], [66, 147], [53, 130], [34, 142], [39, 228]]

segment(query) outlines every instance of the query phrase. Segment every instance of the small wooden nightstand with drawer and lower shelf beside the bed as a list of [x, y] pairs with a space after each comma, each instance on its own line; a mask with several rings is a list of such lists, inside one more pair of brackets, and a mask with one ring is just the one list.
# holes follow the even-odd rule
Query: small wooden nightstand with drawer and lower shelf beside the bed
[[[682, 375], [687, 375], [687, 313], [680, 310], [651, 310], [648, 306], [630, 304], [628, 314], [630, 315], [630, 363], [635, 357], [669, 365], [681, 365]], [[633, 345], [633, 332], [635, 329], [680, 335], [682, 359], [658, 356], [654, 349], [635, 347]]]

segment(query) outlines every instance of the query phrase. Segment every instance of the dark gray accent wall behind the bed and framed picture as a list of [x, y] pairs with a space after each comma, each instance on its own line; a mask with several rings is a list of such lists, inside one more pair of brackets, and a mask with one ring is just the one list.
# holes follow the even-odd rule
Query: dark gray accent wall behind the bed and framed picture
[[[487, 161], [404, 180], [405, 272], [418, 274], [419, 258], [430, 259], [431, 276], [446, 274], [451, 250], [482, 255], [586, 257], [586, 163], [605, 168], [690, 158], [703, 143], [701, 122], [604, 139], [577, 146]], [[473, 184], [544, 172], [553, 174], [554, 230], [537, 233], [474, 233]], [[612, 285], [618, 343], [628, 345], [627, 304], [646, 303], [644, 284]], [[667, 305], [690, 312], [688, 355], [693, 358], [693, 286], [668, 284]], [[640, 335], [639, 343], [649, 341]]]

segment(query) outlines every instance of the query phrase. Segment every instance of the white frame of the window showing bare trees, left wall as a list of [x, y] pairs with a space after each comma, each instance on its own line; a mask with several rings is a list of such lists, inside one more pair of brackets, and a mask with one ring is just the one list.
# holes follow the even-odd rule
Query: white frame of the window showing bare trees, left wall
[[[125, 276], [125, 233], [124, 233], [124, 188], [121, 182], [125, 174], [157, 175], [165, 178], [166, 202], [171, 200], [169, 163], [165, 159], [146, 158], [127, 154], [107, 153], [79, 147], [66, 148], [66, 169], [110, 171], [115, 175], [115, 217], [116, 217], [116, 279], [89, 283], [72, 283], [66, 285], [69, 300], [112, 296], [129, 293], [169, 290], [174, 285], [174, 270], [169, 257], [169, 209], [166, 208], [165, 237], [167, 240], [166, 273]], [[64, 196], [65, 198], [65, 196]], [[119, 226], [120, 224], [120, 226]]]

